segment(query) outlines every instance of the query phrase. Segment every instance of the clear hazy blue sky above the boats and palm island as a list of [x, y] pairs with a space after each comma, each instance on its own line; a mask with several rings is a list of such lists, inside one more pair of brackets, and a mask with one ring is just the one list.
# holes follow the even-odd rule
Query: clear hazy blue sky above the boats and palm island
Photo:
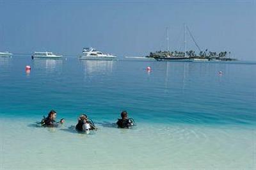
[[[117, 56], [184, 50], [184, 24], [200, 49], [256, 61], [256, 0], [0, 0], [0, 51], [79, 55], [95, 47]], [[187, 49], [197, 50], [186, 33]]]

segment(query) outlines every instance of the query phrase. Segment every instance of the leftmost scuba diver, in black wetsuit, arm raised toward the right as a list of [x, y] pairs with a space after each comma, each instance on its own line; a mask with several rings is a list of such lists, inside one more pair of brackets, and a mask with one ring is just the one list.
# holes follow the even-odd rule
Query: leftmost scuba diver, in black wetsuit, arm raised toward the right
[[60, 121], [56, 122], [55, 118], [57, 116], [57, 112], [54, 110], [51, 110], [47, 116], [47, 118], [42, 119], [40, 122], [40, 125], [42, 127], [58, 127], [59, 125], [62, 125], [64, 123], [64, 119], [62, 118]]

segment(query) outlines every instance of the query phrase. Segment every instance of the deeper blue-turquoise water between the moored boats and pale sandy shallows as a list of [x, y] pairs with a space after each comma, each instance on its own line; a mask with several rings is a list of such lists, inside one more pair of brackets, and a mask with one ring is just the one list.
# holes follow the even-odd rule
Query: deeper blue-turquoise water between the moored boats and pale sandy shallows
[[[114, 121], [125, 109], [148, 123], [256, 123], [256, 65], [75, 58], [0, 62], [0, 116], [40, 119], [55, 109], [67, 120], [86, 112], [97, 121]], [[32, 67], [29, 74], [26, 65]]]

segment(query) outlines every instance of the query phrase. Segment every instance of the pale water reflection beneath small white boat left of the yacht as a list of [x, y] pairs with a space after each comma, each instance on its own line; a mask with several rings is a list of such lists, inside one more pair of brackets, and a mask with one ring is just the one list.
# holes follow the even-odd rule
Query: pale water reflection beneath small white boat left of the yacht
[[35, 68], [46, 68], [52, 72], [62, 66], [62, 59], [33, 59]]

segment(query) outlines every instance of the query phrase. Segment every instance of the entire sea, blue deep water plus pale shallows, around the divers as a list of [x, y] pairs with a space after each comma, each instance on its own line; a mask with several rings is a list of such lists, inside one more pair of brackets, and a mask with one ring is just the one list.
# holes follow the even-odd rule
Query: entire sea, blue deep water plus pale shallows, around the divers
[[[255, 169], [255, 73], [250, 63], [2, 58], [0, 169]], [[51, 109], [65, 125], [36, 128]], [[111, 127], [122, 110], [134, 129]], [[68, 129], [81, 112], [97, 132]]]

